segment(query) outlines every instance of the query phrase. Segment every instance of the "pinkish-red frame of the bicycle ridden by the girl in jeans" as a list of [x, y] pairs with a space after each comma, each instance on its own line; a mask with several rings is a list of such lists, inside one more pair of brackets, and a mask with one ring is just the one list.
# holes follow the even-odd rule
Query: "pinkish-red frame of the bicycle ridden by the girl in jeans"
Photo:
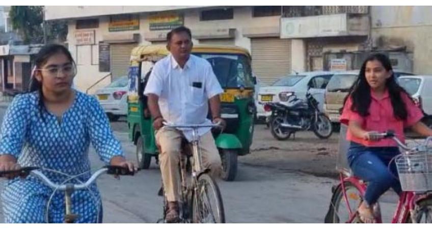
[[[367, 185], [357, 177], [354, 176], [346, 176], [342, 172], [339, 173], [339, 185], [342, 188], [343, 199], [345, 201], [346, 207], [349, 212], [349, 219], [347, 223], [352, 222], [356, 218], [356, 213], [351, 211], [349, 206], [348, 197], [345, 192], [344, 182], [349, 182], [353, 184], [359, 191], [362, 196], [364, 196], [366, 192]], [[399, 201], [397, 203], [396, 210], [394, 212], [391, 223], [403, 223], [406, 222], [408, 217], [414, 215], [414, 209], [416, 206], [416, 202], [420, 199], [425, 198], [425, 196], [421, 196], [421, 194], [417, 194], [412, 191], [403, 191], [399, 196]], [[411, 214], [409, 214], [411, 213]], [[376, 216], [376, 223], [382, 223], [381, 214]]]

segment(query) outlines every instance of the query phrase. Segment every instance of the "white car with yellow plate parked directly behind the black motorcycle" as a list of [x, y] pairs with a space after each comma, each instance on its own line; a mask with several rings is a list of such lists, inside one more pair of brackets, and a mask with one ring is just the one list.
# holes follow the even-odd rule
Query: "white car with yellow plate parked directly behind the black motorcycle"
[[296, 95], [299, 99], [306, 99], [306, 92], [309, 89], [311, 95], [319, 102], [318, 108], [322, 110], [324, 102], [324, 91], [327, 83], [334, 72], [315, 71], [301, 72], [295, 75], [288, 75], [276, 80], [268, 87], [261, 87], [258, 92], [257, 118], [266, 119], [272, 112], [264, 110], [266, 102], [288, 101], [290, 95]]

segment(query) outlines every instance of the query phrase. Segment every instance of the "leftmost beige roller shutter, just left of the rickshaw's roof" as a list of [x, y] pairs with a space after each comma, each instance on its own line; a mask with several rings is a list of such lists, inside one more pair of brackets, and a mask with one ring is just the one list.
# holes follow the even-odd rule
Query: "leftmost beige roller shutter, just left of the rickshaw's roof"
[[130, 52], [137, 44], [111, 44], [111, 79], [127, 75]]

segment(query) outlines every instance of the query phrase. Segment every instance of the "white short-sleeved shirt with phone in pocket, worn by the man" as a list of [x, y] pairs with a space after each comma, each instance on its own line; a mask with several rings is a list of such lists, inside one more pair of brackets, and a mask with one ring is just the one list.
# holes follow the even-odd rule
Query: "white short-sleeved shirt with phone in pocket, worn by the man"
[[[159, 109], [167, 122], [187, 125], [210, 124], [208, 99], [223, 92], [208, 61], [191, 54], [182, 69], [170, 54], [154, 65], [144, 95], [159, 97]], [[198, 135], [209, 130], [200, 128]], [[192, 140], [191, 130], [183, 134]]]

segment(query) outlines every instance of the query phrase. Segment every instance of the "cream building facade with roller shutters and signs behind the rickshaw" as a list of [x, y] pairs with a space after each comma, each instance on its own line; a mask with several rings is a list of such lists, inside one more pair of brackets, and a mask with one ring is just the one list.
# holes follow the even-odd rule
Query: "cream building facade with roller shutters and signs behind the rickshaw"
[[[363, 50], [369, 18], [367, 6], [45, 7], [46, 20], [69, 22], [67, 46], [78, 68], [75, 86], [87, 91], [105, 77], [90, 93], [127, 74], [133, 47], [166, 44], [175, 26], [191, 28], [195, 44], [248, 49], [254, 74], [271, 83], [293, 72], [329, 70], [332, 59]], [[353, 68], [350, 63], [342, 67]]]

